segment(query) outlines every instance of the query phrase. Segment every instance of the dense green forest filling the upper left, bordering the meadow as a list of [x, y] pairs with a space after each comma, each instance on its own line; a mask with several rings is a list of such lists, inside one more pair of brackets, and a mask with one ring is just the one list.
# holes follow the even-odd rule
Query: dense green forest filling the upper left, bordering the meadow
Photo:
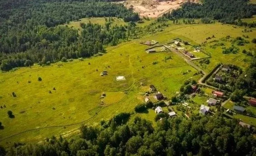
[[124, 27], [105, 29], [88, 24], [82, 27], [79, 36], [72, 28], [58, 26], [88, 17], [118, 17], [125, 22], [139, 20], [138, 14], [123, 4], [105, 1], [108, 0], [1, 1], [0, 69], [8, 71], [37, 62], [46, 64], [63, 57], [88, 57], [103, 51], [103, 45], [110, 42], [115, 45], [119, 38], [125, 37]]

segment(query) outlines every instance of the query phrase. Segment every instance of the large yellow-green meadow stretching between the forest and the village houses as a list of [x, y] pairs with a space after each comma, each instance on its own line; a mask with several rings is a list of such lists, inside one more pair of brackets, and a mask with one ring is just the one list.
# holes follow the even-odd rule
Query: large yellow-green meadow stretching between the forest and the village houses
[[[107, 53], [91, 58], [0, 73], [0, 105], [6, 106], [0, 109], [4, 126], [0, 129], [0, 144], [8, 146], [18, 141], [39, 142], [51, 135], [74, 135], [82, 122], [97, 125], [100, 120], [107, 120], [119, 112], [133, 111], [134, 106], [143, 102], [142, 94], [151, 84], [171, 98], [186, 79], [200, 78], [193, 76], [197, 71], [175, 53], [148, 54], [145, 52], [148, 46], [139, 44], [141, 41], [168, 43], [180, 38], [200, 44], [212, 35], [215, 39], [227, 35], [242, 36], [242, 30], [221, 24], [173, 25], [154, 35], [109, 47]], [[247, 33], [250, 39], [256, 35], [255, 31]], [[245, 47], [253, 46], [250, 43]], [[205, 71], [213, 69], [218, 62], [247, 67], [247, 62], [242, 60], [250, 58], [241, 52], [224, 55], [219, 49], [207, 46], [205, 49], [212, 54]], [[167, 56], [171, 59], [165, 60]], [[152, 62], [158, 63], [153, 65]], [[188, 70], [191, 72], [182, 74]], [[109, 74], [100, 76], [102, 71]], [[43, 80], [38, 81], [38, 76]], [[116, 81], [116, 76], [125, 76], [126, 80]], [[140, 86], [141, 82], [144, 86]], [[12, 92], [17, 97], [13, 97]], [[100, 98], [102, 92], [106, 93], [104, 99]], [[8, 110], [14, 112], [15, 118], [8, 117]], [[142, 116], [153, 120], [155, 114], [149, 111]], [[21, 132], [25, 133], [19, 134]], [[8, 142], [3, 140], [5, 138]]]

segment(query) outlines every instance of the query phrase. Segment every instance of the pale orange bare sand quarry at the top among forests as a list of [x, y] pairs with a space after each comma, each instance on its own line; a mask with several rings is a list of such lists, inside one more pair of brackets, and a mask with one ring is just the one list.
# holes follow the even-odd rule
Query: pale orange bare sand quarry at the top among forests
[[[127, 8], [132, 8], [139, 13], [141, 17], [160, 17], [172, 9], [180, 7], [181, 4], [188, 0], [125, 0], [122, 3]], [[198, 1], [198, 0], [193, 0]]]

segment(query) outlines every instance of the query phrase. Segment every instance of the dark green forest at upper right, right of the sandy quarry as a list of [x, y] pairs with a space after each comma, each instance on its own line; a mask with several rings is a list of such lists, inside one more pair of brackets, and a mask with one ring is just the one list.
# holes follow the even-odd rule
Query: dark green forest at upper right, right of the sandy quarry
[[[233, 24], [237, 19], [251, 18], [256, 14], [256, 5], [248, 0], [204, 0], [202, 4], [186, 2], [181, 8], [163, 16], [173, 18], [209, 18]], [[249, 25], [249, 24], [248, 24]], [[251, 24], [253, 26], [253, 24]]]

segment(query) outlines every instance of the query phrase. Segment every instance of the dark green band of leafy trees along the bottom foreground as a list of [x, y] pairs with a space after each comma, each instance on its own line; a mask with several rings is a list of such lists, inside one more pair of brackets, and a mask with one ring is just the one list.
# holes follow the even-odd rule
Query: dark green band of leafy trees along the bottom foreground
[[250, 129], [237, 120], [224, 119], [217, 112], [213, 117], [193, 115], [163, 117], [152, 123], [135, 117], [129, 124], [128, 113], [120, 113], [99, 127], [81, 125], [80, 137], [66, 140], [61, 136], [46, 138], [43, 143], [14, 143], [2, 153], [9, 156], [180, 156], [256, 154], [256, 140]]

